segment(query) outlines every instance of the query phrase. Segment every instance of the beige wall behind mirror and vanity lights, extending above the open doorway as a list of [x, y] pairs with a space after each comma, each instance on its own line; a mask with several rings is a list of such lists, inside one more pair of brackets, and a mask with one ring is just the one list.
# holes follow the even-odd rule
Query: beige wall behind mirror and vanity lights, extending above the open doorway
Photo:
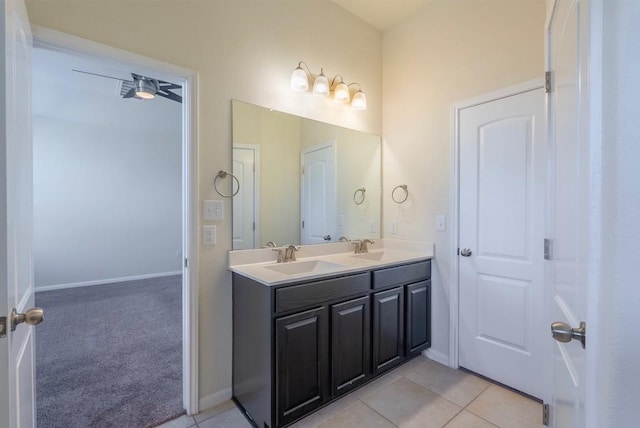
[[[32, 23], [198, 72], [200, 200], [216, 199], [215, 174], [231, 168], [231, 99], [381, 133], [382, 35], [333, 3], [28, 0], [27, 7]], [[359, 82], [368, 109], [292, 93], [289, 77], [300, 60]], [[200, 396], [219, 399], [231, 386], [230, 210], [227, 201], [218, 245], [198, 254]]]

